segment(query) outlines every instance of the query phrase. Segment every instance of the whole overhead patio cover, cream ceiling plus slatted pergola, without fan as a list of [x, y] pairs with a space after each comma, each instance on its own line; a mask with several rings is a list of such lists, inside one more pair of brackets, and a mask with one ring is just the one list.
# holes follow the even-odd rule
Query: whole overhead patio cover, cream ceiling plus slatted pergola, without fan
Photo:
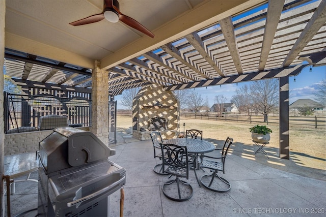
[[[6, 74], [19, 84], [91, 88], [94, 60], [109, 91], [168, 90], [294, 76], [326, 64], [325, 0], [119, 0], [154, 39], [122, 22], [71, 26], [102, 0], [6, 1]], [[258, 7], [258, 8], [257, 8]]]

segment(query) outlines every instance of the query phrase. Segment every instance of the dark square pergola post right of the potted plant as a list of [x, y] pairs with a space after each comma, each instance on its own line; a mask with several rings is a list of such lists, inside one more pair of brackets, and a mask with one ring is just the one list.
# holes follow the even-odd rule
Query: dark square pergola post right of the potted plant
[[280, 77], [280, 158], [290, 159], [289, 145], [289, 76]]

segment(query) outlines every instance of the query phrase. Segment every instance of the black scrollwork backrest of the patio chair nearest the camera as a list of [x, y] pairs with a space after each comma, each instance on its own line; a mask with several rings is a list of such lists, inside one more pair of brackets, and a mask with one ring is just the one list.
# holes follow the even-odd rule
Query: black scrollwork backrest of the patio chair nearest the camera
[[186, 146], [161, 143], [163, 158], [162, 169], [165, 173], [188, 179], [188, 151]]

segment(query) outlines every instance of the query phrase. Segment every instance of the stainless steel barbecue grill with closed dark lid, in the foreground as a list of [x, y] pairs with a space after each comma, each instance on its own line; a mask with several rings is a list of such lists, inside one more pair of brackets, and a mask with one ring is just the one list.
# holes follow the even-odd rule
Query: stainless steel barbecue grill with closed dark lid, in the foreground
[[108, 216], [108, 196], [125, 184], [114, 154], [91, 132], [55, 129], [39, 144], [38, 216]]

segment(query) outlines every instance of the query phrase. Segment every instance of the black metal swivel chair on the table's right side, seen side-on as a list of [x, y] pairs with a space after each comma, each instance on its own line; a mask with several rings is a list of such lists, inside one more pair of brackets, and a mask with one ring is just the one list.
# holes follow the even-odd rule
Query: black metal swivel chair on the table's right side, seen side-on
[[[200, 156], [201, 163], [200, 168], [207, 168], [212, 171], [211, 174], [202, 175], [200, 182], [204, 185], [205, 188], [214, 191], [214, 192], [227, 192], [231, 189], [231, 184], [228, 180], [218, 175], [218, 171], [225, 173], [225, 160], [228, 154], [230, 145], [232, 144], [233, 139], [227, 138], [224, 142], [223, 148], [217, 148], [215, 150], [222, 150], [221, 156], [212, 157], [212, 156]], [[219, 153], [220, 154], [220, 153]], [[210, 180], [209, 180], [210, 177]], [[222, 183], [218, 183], [214, 178], [218, 177]]]

